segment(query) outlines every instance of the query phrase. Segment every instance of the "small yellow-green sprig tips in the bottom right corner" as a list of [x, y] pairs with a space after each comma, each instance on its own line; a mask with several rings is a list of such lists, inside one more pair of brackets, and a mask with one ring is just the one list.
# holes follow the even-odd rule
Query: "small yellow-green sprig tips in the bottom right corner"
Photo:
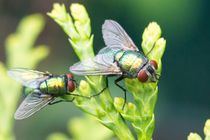
[[[205, 123], [204, 126], [204, 134], [205, 134], [205, 139], [204, 140], [210, 140], [210, 119], [208, 119]], [[190, 133], [189, 136], [187, 137], [188, 140], [202, 140], [201, 136], [197, 133]]]

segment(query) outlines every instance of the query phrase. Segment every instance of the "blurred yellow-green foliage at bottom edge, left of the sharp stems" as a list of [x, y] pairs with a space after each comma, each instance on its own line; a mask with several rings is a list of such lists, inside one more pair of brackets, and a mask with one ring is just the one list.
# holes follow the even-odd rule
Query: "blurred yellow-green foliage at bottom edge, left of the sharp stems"
[[[71, 118], [68, 122], [69, 138], [63, 133], [56, 132], [48, 136], [47, 140], [113, 140], [113, 132], [99, 124], [91, 116]], [[97, 133], [96, 133], [97, 132]]]

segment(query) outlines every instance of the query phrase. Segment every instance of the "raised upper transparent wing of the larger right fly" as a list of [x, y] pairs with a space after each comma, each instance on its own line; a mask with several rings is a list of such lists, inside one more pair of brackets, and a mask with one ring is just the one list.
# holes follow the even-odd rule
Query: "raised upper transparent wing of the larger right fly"
[[105, 20], [102, 25], [104, 42], [107, 47], [139, 51], [125, 30], [113, 20]]

